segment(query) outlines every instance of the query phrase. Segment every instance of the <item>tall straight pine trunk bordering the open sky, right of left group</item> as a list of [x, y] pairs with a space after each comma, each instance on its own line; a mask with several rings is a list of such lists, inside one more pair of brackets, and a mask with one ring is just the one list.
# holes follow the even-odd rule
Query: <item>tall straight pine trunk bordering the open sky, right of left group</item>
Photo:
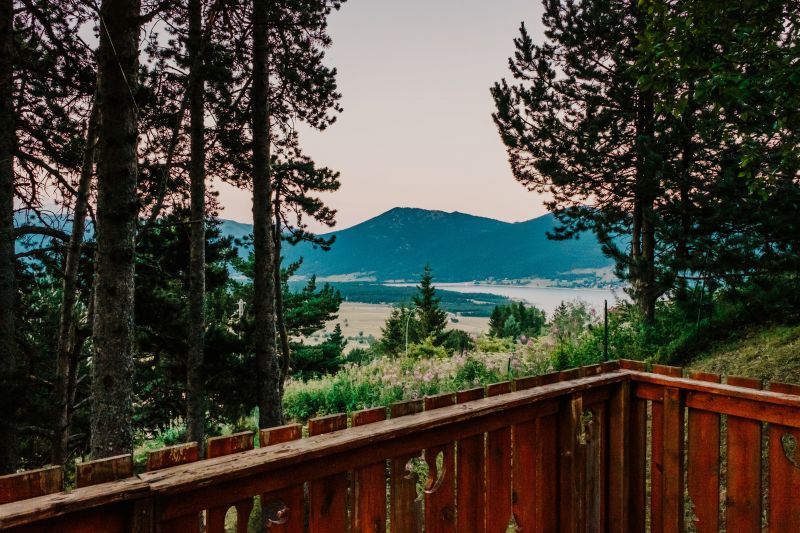
[[267, 0], [253, 0], [253, 293], [258, 422], [266, 428], [283, 423], [281, 372], [275, 346], [275, 260], [271, 235], [269, 57]]

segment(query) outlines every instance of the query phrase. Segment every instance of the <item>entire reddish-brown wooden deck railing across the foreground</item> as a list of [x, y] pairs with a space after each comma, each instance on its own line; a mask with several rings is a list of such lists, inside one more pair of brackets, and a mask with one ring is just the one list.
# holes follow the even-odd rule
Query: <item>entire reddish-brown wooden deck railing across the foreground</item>
[[69, 493], [6, 476], [0, 528], [214, 533], [235, 508], [245, 531], [257, 503], [273, 532], [800, 531], [800, 388], [720, 381], [622, 361], [159, 450], [136, 477], [88, 463]]

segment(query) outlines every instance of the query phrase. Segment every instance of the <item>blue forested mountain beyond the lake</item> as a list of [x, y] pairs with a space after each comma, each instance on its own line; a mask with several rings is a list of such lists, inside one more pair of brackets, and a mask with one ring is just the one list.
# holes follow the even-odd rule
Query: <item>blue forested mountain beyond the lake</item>
[[[440, 282], [487, 279], [571, 279], [607, 269], [611, 261], [592, 234], [551, 241], [553, 215], [509, 223], [459, 212], [391, 209], [335, 235], [330, 251], [287, 246], [288, 260], [303, 257], [299, 275], [375, 281], [416, 281], [429, 263]], [[241, 237], [251, 226], [225, 220], [225, 234]], [[583, 271], [582, 274], [576, 271]]]

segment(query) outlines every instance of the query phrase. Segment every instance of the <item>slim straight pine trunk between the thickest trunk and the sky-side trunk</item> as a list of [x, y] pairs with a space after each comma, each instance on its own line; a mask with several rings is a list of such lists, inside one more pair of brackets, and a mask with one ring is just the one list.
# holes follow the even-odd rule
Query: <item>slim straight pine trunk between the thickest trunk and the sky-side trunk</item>
[[191, 235], [189, 245], [189, 354], [186, 361], [186, 393], [189, 440], [197, 442], [200, 454], [205, 451], [205, 391], [203, 387], [203, 352], [205, 349], [206, 300], [206, 226], [205, 226], [205, 125], [203, 120], [202, 53], [203, 6], [201, 0], [189, 0], [189, 56], [194, 83], [191, 91]]

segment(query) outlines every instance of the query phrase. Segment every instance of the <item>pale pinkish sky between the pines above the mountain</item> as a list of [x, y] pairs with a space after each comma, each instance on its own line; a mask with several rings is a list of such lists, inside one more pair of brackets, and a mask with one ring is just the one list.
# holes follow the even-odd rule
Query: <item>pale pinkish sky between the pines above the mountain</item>
[[[301, 143], [341, 172], [326, 197], [337, 229], [397, 206], [505, 221], [545, 213], [511, 174], [489, 94], [510, 77], [520, 22], [541, 40], [541, 12], [539, 0], [349, 0], [332, 15], [327, 64], [344, 112], [324, 132], [302, 130]], [[252, 221], [248, 191], [215, 188], [223, 218]]]

